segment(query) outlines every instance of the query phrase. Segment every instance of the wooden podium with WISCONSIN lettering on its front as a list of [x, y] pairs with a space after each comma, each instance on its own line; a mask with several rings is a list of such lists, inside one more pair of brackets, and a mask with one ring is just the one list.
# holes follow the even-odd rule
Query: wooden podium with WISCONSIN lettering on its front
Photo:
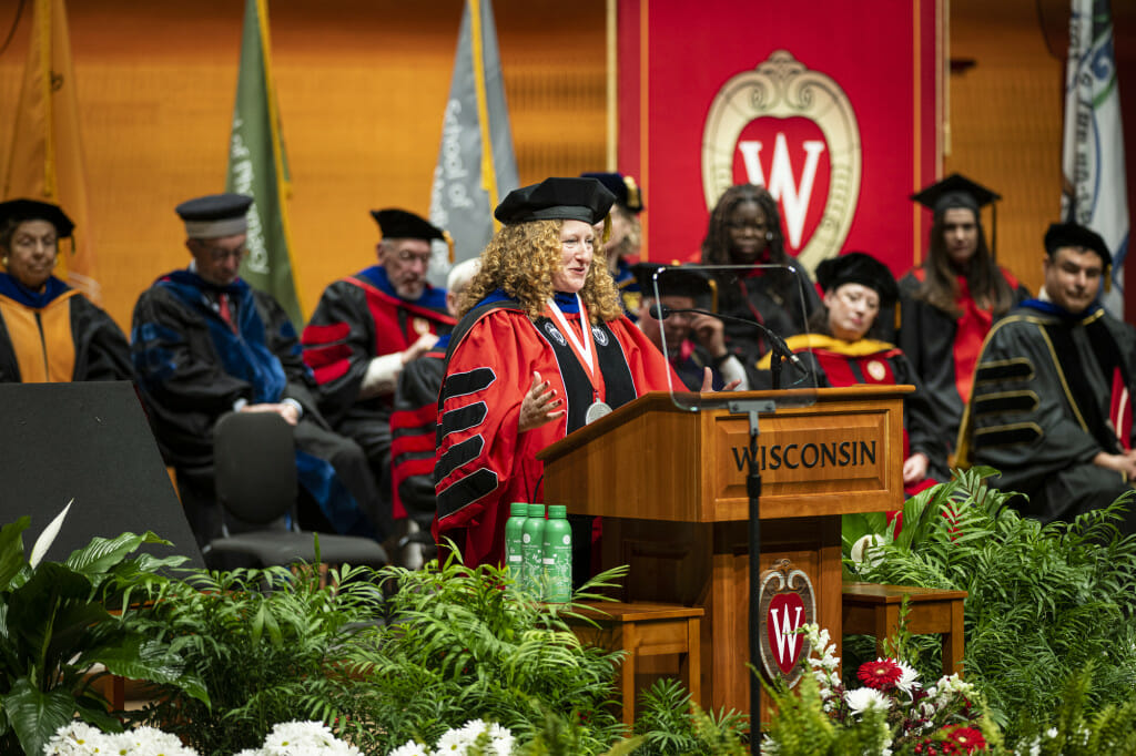
[[[790, 560], [809, 577], [817, 621], [837, 652], [841, 515], [902, 506], [902, 396], [910, 390], [821, 388], [809, 392], [811, 404], [760, 415], [760, 566]], [[623, 600], [705, 610], [700, 703], [747, 713], [750, 428], [745, 414], [728, 412], [726, 396], [782, 401], [786, 392], [703, 395], [712, 409], [702, 411], [651, 392], [538, 456], [546, 503], [603, 518], [602, 566], [630, 566]]]

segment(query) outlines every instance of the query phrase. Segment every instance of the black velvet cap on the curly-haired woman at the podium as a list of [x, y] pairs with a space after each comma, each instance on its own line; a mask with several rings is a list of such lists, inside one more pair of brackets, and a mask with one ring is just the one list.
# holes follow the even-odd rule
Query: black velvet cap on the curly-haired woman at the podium
[[594, 178], [545, 178], [509, 192], [493, 211], [507, 226], [531, 220], [582, 220], [595, 225], [607, 218], [616, 196]]

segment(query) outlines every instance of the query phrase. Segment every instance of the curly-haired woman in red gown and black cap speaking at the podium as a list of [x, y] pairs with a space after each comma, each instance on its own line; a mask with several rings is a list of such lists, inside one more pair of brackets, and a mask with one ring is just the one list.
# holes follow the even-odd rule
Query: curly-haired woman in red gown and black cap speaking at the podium
[[494, 211], [503, 226], [459, 305], [438, 404], [433, 532], [467, 565], [500, 564], [509, 504], [543, 501], [537, 452], [680, 385], [594, 258], [593, 226], [613, 201], [594, 178], [548, 178]]

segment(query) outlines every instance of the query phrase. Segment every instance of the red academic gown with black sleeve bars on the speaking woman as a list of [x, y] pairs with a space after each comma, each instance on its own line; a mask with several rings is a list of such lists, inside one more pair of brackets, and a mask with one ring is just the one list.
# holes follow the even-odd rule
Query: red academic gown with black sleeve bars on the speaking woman
[[[501, 564], [511, 502], [544, 501], [537, 452], [583, 427], [596, 398], [615, 409], [644, 392], [667, 390], [670, 371], [662, 353], [620, 316], [592, 328], [602, 376], [593, 386], [553, 320], [534, 324], [524, 311], [509, 309], [516, 305], [503, 295], [493, 299], [459, 322], [438, 403], [438, 511], [432, 530], [440, 543], [453, 540], [470, 566]], [[561, 306], [579, 337], [579, 314]], [[518, 434], [534, 371], [567, 400], [568, 412]], [[677, 376], [673, 381], [682, 385]]]

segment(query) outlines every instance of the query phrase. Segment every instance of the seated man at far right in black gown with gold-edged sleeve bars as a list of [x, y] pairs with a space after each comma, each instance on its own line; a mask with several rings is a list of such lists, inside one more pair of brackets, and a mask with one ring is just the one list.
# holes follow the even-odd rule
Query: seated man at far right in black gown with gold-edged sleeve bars
[[[1112, 260], [1097, 234], [1054, 224], [1045, 251], [1038, 297], [996, 322], [983, 347], [959, 456], [997, 469], [992, 485], [1027, 495], [1019, 509], [1049, 522], [1131, 490], [1136, 329], [1101, 306]], [[1136, 515], [1120, 528], [1136, 532]]]

